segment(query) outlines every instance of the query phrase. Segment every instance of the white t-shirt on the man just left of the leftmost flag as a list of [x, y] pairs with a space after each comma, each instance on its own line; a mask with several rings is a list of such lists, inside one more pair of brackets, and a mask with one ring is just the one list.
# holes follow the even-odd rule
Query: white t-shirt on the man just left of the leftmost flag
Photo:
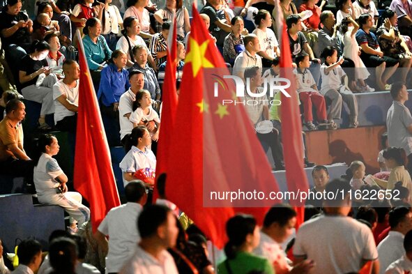
[[57, 100], [62, 95], [66, 95], [69, 102], [79, 105], [79, 80], [76, 81], [76, 86], [72, 89], [63, 80], [56, 82], [53, 86], [53, 100], [54, 100], [54, 123], [63, 120], [66, 116], [73, 116], [76, 113], [68, 110], [65, 106]]

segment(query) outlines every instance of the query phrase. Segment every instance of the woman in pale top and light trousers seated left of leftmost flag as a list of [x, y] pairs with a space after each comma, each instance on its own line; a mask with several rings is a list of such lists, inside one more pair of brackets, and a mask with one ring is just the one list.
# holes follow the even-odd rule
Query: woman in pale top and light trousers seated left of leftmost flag
[[53, 135], [41, 135], [37, 142], [37, 154], [34, 161], [34, 185], [38, 201], [42, 204], [61, 206], [70, 215], [71, 231], [90, 218], [90, 210], [82, 205], [82, 195], [79, 192], [68, 192], [68, 178], [52, 158], [59, 153], [59, 143]]

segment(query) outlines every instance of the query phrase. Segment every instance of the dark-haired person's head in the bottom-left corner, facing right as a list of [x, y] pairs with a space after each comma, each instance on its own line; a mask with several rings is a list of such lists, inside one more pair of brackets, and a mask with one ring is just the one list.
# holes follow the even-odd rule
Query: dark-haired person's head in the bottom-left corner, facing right
[[19, 266], [13, 274], [36, 273], [42, 262], [42, 246], [36, 240], [24, 240], [17, 248]]

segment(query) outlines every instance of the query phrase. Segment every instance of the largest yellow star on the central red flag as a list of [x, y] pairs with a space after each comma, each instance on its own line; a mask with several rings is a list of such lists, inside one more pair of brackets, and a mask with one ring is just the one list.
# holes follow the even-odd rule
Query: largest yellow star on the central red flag
[[197, 40], [190, 38], [190, 51], [186, 55], [185, 63], [192, 63], [193, 77], [197, 76], [201, 67], [214, 68], [213, 63], [206, 59], [204, 54], [208, 48], [209, 40], [204, 41], [201, 45], [197, 43]]

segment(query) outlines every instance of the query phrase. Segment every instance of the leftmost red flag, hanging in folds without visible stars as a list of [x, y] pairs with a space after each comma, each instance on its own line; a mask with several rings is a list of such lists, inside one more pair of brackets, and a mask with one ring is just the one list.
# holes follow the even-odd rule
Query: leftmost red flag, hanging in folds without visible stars
[[89, 201], [91, 224], [93, 231], [96, 231], [107, 212], [120, 205], [120, 199], [96, 91], [91, 82], [79, 31], [76, 35], [81, 73], [73, 181], [75, 189]]

